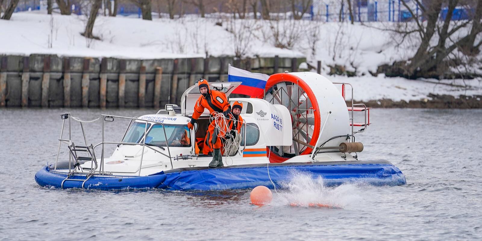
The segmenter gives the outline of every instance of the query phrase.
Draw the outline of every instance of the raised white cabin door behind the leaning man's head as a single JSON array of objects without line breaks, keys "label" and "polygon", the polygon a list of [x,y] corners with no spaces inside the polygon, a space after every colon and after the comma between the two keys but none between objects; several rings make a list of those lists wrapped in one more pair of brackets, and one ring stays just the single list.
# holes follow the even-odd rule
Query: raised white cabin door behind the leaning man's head
[{"label": "raised white cabin door behind the leaning man's head", "polygon": [[[234,89],[241,85],[241,82],[210,82],[209,88],[211,90],[216,90],[223,92],[226,94],[226,97],[229,97]],[[194,113],[194,104],[196,100],[198,100],[201,92],[199,91],[198,84],[194,84],[193,86],[187,88],[187,90],[182,94],[181,97],[181,114],[184,116],[192,116]],[[204,113],[209,114],[209,111],[206,109]],[[204,114],[203,113],[203,114]]]}]

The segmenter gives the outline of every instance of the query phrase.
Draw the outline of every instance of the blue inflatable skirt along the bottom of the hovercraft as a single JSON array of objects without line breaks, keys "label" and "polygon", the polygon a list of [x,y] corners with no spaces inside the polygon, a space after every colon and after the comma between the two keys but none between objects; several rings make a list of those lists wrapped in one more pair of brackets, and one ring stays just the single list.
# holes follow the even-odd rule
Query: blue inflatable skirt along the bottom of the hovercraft
[{"label": "blue inflatable skirt along the bottom of the hovercraft", "polygon": [[[349,163],[349,164],[348,164]],[[269,175],[268,175],[269,172]],[[375,186],[397,186],[406,183],[402,172],[388,161],[335,161],[308,163],[269,163],[223,168],[180,168],[148,176],[93,175],[84,184],[88,189],[224,190],[256,186],[286,187],[297,175],[321,178],[323,185],[365,183]],[[40,186],[61,187],[66,174],[44,167],[35,174]],[[85,180],[85,175],[70,178]],[[81,188],[82,181],[67,180],[64,188]]]}]

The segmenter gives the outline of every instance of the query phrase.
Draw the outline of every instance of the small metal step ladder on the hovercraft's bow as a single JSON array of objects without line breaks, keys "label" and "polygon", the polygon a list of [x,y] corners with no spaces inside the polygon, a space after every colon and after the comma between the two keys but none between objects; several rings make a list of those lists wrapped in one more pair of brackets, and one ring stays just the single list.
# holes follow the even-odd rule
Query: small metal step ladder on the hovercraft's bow
[{"label": "small metal step ladder on the hovercraft's bow", "polygon": [[[94,175],[94,171],[95,169],[97,169],[97,160],[95,159],[94,146],[92,144],[90,146],[76,146],[74,143],[72,143],[72,145],[68,146],[68,149],[70,150],[70,154],[74,158],[74,169],[67,174],[67,177],[60,184],[60,187],[64,188],[64,183],[66,181],[77,181],[82,182],[81,188],[84,188],[85,182],[87,182],[92,177],[92,175]],[[87,154],[87,156],[79,156],[77,152],[85,153]],[[90,169],[89,173],[85,175],[85,179],[71,178],[74,176],[74,174],[76,174],[77,170],[83,172],[83,169],[80,165],[86,161],[92,161],[93,164],[95,164],[95,167]],[[84,175],[76,176],[83,177]]]}]

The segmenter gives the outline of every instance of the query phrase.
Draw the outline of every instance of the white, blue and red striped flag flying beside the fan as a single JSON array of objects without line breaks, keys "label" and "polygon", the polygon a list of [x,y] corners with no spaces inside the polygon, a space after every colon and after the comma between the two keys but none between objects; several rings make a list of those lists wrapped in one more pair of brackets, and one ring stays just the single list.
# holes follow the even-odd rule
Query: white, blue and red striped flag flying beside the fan
[{"label": "white, blue and red striped flag flying beside the fan", "polygon": [[251,73],[247,70],[232,67],[228,68],[228,82],[242,82],[232,93],[246,94],[250,96],[263,96],[266,81],[269,75],[261,73]]}]

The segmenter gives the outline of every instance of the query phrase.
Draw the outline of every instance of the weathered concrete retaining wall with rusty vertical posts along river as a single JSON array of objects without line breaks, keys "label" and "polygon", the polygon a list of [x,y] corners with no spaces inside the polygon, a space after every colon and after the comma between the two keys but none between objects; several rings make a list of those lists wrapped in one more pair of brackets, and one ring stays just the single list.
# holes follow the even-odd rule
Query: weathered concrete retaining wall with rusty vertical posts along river
[{"label": "weathered concrete retaining wall with rusty vertical posts along river", "polygon": [[[304,58],[116,59],[0,56],[0,107],[155,107],[179,103],[199,78],[227,81],[228,64],[253,72],[297,71]],[[170,92],[170,93],[169,93]]]}]

